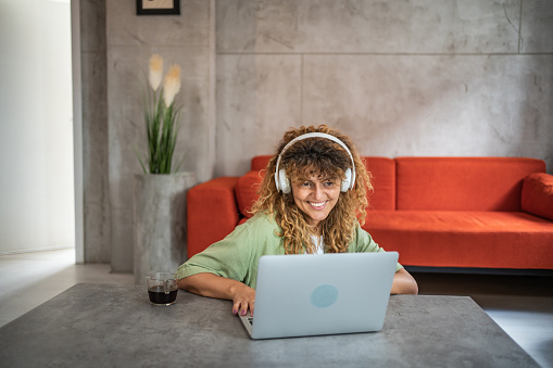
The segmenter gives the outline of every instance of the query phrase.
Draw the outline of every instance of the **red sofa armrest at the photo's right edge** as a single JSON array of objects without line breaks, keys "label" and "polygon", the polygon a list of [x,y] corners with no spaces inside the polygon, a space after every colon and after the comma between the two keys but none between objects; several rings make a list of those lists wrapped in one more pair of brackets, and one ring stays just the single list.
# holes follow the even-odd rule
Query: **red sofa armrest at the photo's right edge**
[{"label": "red sofa armrest at the photo's right edge", "polygon": [[521,207],[530,214],[553,220],[553,175],[536,173],[524,179]]}]

